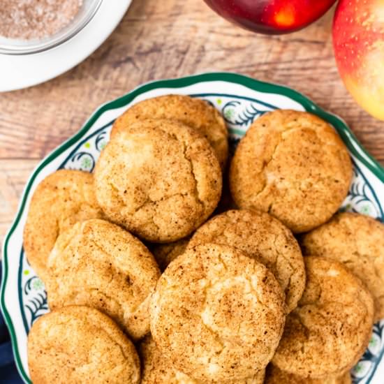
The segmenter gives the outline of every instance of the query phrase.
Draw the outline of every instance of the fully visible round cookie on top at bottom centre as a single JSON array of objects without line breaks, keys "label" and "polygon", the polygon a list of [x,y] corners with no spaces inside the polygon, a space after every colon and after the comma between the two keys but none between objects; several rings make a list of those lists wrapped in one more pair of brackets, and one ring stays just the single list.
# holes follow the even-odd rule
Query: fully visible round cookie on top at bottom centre
[{"label": "fully visible round cookie on top at bottom centre", "polygon": [[152,337],[175,369],[219,383],[265,369],[286,311],[265,265],[218,244],[196,246],[173,260],[150,308]]}]

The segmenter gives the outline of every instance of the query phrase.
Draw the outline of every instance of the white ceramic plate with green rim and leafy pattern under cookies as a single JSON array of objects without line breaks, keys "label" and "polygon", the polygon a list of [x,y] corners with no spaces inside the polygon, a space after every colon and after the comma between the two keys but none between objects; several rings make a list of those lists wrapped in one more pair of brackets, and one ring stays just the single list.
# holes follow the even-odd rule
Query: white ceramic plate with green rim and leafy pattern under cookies
[{"label": "white ceramic plate with green rim and leafy pattern under cookies", "polygon": [[[253,120],[276,108],[307,110],[329,121],[346,143],[354,165],[353,182],[340,209],[384,221],[384,169],[365,152],[344,121],[318,108],[302,94],[232,73],[207,73],[138,87],[126,96],[102,105],[78,133],[38,165],[29,179],[16,219],[4,241],[1,310],[12,337],[17,368],[26,383],[30,383],[27,334],[34,321],[48,311],[43,282],[31,269],[22,248],[22,231],[31,195],[45,176],[59,168],[92,172],[109,140],[110,128],[116,117],[138,101],[163,94],[188,94],[212,103],[226,119],[232,150]],[[383,353],[384,320],[374,325],[369,347],[352,371],[355,384],[383,383]]]}]

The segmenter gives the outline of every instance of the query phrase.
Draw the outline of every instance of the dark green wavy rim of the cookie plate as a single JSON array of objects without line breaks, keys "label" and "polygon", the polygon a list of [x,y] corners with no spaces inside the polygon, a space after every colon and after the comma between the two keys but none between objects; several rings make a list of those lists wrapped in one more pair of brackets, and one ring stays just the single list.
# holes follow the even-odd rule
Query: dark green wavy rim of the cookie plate
[{"label": "dark green wavy rim of the cookie plate", "polygon": [[[15,329],[13,327],[12,320],[10,318],[10,315],[8,313],[8,310],[6,308],[5,303],[5,285],[8,278],[8,242],[10,239],[10,236],[15,231],[15,228],[17,227],[20,217],[22,216],[22,212],[24,211],[25,203],[27,201],[27,196],[29,195],[29,191],[31,190],[31,186],[34,183],[34,180],[36,179],[36,176],[42,170],[45,165],[50,163],[54,160],[57,156],[59,156],[62,152],[64,152],[68,147],[71,147],[77,140],[80,140],[82,135],[86,133],[91,126],[97,121],[97,119],[103,115],[105,111],[108,110],[114,110],[117,108],[124,107],[128,103],[131,103],[134,98],[139,96],[140,94],[144,94],[147,91],[152,91],[153,89],[158,88],[182,88],[182,87],[188,87],[189,85],[193,85],[199,82],[214,82],[214,81],[223,81],[223,82],[232,82],[235,84],[243,85],[244,87],[247,87],[249,89],[252,89],[253,91],[262,92],[265,94],[280,94],[282,96],[287,96],[288,98],[293,99],[297,103],[300,103],[305,110],[308,112],[314,113],[315,115],[318,115],[322,119],[325,119],[326,121],[330,122],[334,128],[337,129],[337,132],[343,139],[344,143],[348,147],[349,151],[353,156],[355,156],[359,161],[361,161],[371,172],[378,177],[378,179],[381,180],[381,182],[384,182],[384,168],[376,161],[375,158],[373,158],[365,149],[362,147],[360,142],[355,137],[354,133],[350,131],[350,128],[346,125],[346,123],[336,115],[332,115],[329,112],[325,112],[322,108],[318,107],[313,101],[311,101],[309,98],[304,96],[303,94],[300,94],[300,92],[294,91],[293,89],[290,89],[288,87],[284,87],[282,85],[278,84],[272,84],[267,82],[261,82],[259,80],[255,80],[251,77],[245,76],[245,75],[239,75],[237,73],[228,73],[228,72],[214,72],[214,73],[202,73],[200,75],[192,75],[187,77],[181,77],[177,79],[170,79],[170,80],[158,80],[154,82],[148,82],[147,84],[143,84],[142,86],[133,89],[133,91],[129,92],[128,94],[121,96],[120,98],[117,98],[114,101],[110,101],[109,103],[105,103],[104,105],[101,105],[96,112],[90,117],[90,119],[84,124],[84,126],[75,133],[71,138],[66,140],[63,144],[61,144],[57,149],[54,149],[43,161],[37,166],[37,168],[32,173],[31,177],[29,178],[29,181],[27,182],[27,186],[24,189],[22,200],[20,203],[20,206],[17,210],[17,215],[15,218],[15,221],[13,221],[12,226],[10,227],[10,230],[8,231],[4,243],[3,243],[3,274],[1,279],[1,301],[0,301],[0,308],[3,313],[4,320],[6,321],[6,325],[8,326],[8,330],[10,332],[10,338],[12,341],[13,346],[13,355],[15,356],[15,362],[16,367],[20,373],[20,376],[26,381],[27,383],[31,383],[30,379],[28,378],[26,372],[24,371],[22,367],[22,362],[20,360],[19,350],[17,347],[17,340],[16,340],[16,334]],[[351,143],[355,142],[357,147],[360,148],[360,151],[364,154],[362,154],[357,151],[354,145]]]}]

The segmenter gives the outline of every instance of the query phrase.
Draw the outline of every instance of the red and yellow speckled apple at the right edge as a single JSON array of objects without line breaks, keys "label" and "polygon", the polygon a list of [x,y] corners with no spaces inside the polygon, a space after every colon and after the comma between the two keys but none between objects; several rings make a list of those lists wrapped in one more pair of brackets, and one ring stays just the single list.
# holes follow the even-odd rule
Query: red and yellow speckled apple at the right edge
[{"label": "red and yellow speckled apple at the right edge", "polygon": [[364,110],[384,120],[384,1],[340,0],[332,34],[346,89]]}]

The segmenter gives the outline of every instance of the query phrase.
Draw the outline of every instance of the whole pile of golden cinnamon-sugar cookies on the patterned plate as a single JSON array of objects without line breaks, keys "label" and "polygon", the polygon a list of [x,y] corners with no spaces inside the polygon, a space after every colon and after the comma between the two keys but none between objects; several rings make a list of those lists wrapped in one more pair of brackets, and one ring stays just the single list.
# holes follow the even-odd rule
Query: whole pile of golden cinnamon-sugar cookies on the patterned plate
[{"label": "whole pile of golden cinnamon-sugar cookies on the patterned plate", "polygon": [[24,249],[51,309],[31,380],[350,383],[384,317],[384,226],[336,213],[351,177],[307,112],[254,121],[228,165],[205,101],[133,105],[93,175],[54,172],[31,200]]}]

